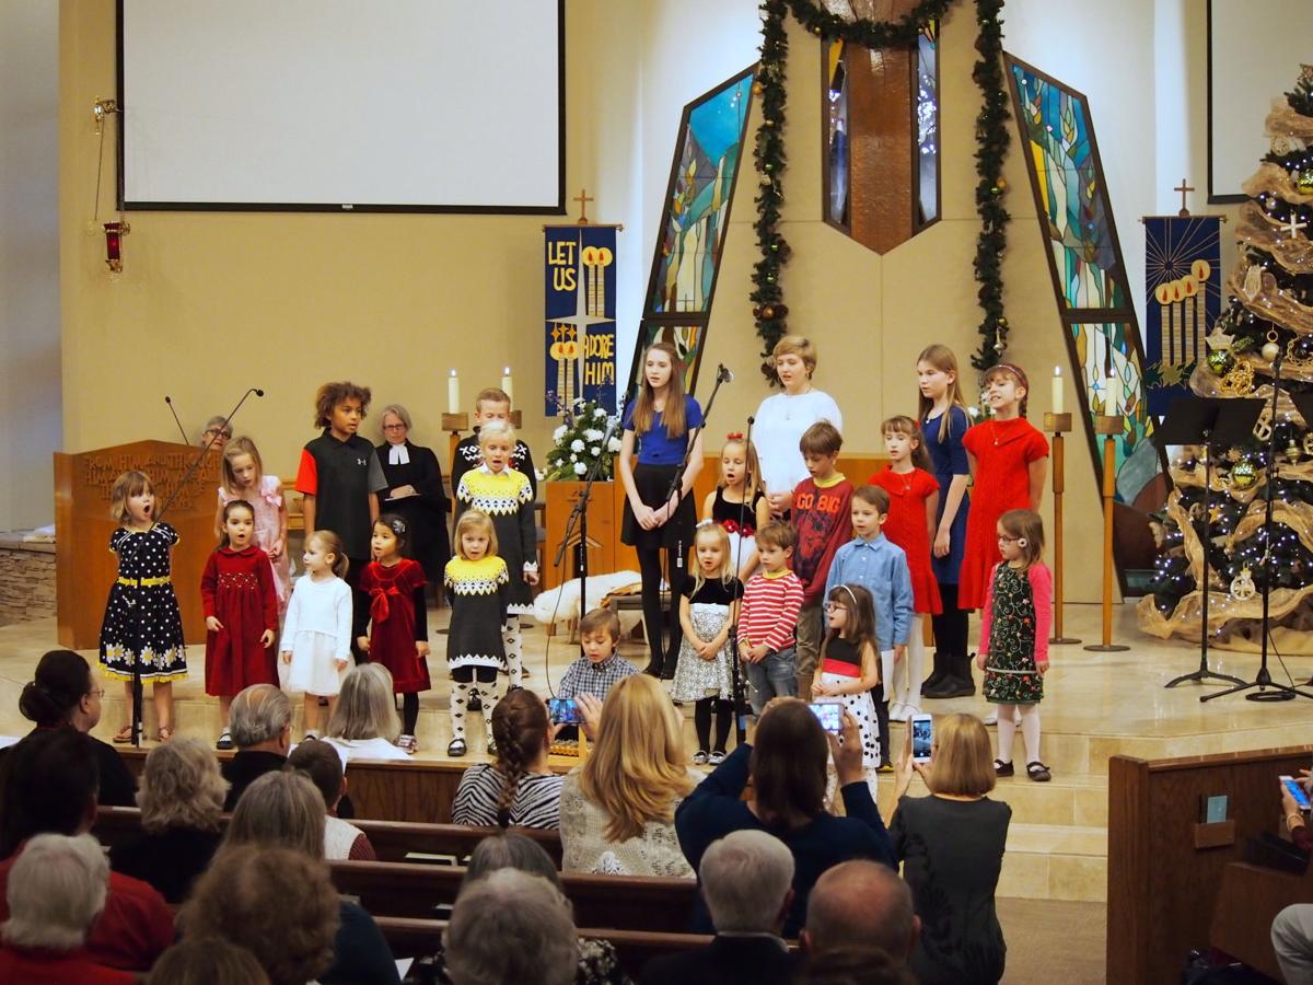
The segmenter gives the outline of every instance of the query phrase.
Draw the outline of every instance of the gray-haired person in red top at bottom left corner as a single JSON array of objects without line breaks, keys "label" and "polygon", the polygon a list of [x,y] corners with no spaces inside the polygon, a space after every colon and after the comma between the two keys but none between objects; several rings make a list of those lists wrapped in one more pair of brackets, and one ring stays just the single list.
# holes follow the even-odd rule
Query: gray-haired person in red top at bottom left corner
[{"label": "gray-haired person in red top at bottom left corner", "polygon": [[38,834],[13,864],[0,925],[0,981],[24,985],[131,985],[129,972],[97,964],[87,932],[109,888],[109,863],[89,834]]}]

